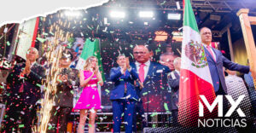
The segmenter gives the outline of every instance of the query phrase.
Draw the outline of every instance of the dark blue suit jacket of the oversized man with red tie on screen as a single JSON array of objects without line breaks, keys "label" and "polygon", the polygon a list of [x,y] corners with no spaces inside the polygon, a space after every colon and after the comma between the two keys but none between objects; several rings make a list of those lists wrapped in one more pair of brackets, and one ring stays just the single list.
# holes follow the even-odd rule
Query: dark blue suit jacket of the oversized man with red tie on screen
[{"label": "dark blue suit jacket of the oversized man with red tie on screen", "polygon": [[[131,63],[131,67],[137,71],[135,62]],[[142,98],[144,110],[148,112],[165,111],[163,106],[164,102],[167,104],[170,102],[167,101],[170,96],[167,93],[168,72],[171,72],[168,67],[163,66],[160,63],[150,61],[148,73],[143,82],[144,88],[141,90],[137,85],[137,95]],[[147,104],[148,102],[150,102],[150,104]]]}]

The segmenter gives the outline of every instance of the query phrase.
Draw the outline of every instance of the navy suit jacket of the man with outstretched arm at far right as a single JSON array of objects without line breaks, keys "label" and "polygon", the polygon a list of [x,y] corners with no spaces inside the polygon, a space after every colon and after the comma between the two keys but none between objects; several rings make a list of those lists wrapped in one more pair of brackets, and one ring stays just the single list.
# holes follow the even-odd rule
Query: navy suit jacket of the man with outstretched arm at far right
[{"label": "navy suit jacket of the man with outstretched arm at far right", "polygon": [[247,73],[250,72],[250,67],[242,66],[236,64],[222,55],[222,53],[218,49],[213,49],[213,52],[216,55],[216,61],[212,58],[210,52],[205,48],[206,55],[207,55],[207,62],[210,68],[211,77],[212,77],[212,84],[214,87],[215,92],[218,91],[219,86],[223,88],[224,92],[227,94],[227,87],[225,84],[224,72],[223,67],[228,68],[232,71],[238,71]]}]

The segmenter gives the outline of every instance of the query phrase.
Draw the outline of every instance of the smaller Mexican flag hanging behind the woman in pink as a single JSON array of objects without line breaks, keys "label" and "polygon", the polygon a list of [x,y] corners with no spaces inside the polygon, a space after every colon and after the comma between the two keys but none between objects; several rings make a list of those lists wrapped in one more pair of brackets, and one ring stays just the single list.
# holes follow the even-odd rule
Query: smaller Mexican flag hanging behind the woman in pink
[{"label": "smaller Mexican flag hanging behind the woman in pink", "polygon": [[85,61],[90,56],[96,56],[96,58],[98,59],[99,70],[102,72],[102,80],[105,81],[105,76],[102,67],[100,40],[97,38],[93,42],[91,42],[89,38],[86,39],[76,69],[84,69]]}]

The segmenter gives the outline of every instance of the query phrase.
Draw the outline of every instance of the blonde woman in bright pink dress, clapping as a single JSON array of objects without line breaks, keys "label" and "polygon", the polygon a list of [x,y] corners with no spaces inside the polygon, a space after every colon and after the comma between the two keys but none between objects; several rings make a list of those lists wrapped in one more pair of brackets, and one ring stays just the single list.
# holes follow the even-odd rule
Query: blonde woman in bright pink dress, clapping
[{"label": "blonde woman in bright pink dress, clapping", "polygon": [[85,61],[84,70],[80,71],[80,85],[84,89],[74,107],[74,109],[80,110],[78,133],[84,133],[84,124],[89,111],[89,133],[93,133],[95,130],[96,112],[98,109],[102,109],[97,83],[102,86],[103,81],[97,64],[96,57],[90,56]]}]

